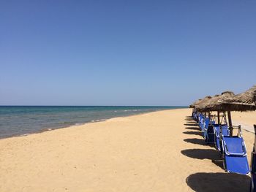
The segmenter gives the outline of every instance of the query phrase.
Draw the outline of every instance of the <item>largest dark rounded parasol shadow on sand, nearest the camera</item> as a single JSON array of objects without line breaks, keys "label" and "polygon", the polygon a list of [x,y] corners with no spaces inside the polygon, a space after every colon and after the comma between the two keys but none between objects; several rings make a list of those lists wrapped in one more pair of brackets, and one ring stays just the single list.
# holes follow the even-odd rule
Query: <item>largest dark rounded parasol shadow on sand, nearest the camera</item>
[{"label": "largest dark rounded parasol shadow on sand, nearest the camera", "polygon": [[250,177],[233,173],[199,172],[190,174],[186,182],[192,190],[198,192],[249,191]]}]

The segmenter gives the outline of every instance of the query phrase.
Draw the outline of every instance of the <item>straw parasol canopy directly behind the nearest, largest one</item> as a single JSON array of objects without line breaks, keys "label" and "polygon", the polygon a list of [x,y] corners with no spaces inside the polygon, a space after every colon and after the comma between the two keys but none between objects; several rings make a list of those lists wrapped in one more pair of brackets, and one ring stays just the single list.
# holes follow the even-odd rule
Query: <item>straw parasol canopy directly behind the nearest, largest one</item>
[{"label": "straw parasol canopy directly behind the nearest, largest one", "polygon": [[219,100],[230,98],[234,96],[235,94],[232,91],[225,91],[222,92],[220,95],[215,95],[208,101],[206,101],[204,104],[200,104],[198,106],[199,112],[210,112],[210,111],[219,111],[224,112],[225,109],[222,106],[222,103],[219,103]]}]

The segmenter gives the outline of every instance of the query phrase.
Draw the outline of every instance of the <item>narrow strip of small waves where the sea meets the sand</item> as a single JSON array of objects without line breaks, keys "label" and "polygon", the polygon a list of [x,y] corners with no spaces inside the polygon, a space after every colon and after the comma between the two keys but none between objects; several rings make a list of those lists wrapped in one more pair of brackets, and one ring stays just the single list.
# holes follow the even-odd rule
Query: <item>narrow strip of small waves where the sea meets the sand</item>
[{"label": "narrow strip of small waves where the sea meets the sand", "polygon": [[[159,112],[159,111],[165,111],[165,110],[177,110],[177,109],[188,109],[189,107],[180,107],[180,108],[173,108],[173,109],[164,109],[164,110],[156,110],[156,111],[152,111],[152,112]],[[130,114],[130,115],[121,115],[121,116],[116,116],[116,117],[113,117],[113,118],[125,118],[125,117],[131,117],[131,116],[136,116],[136,115],[143,115],[143,114],[146,114],[146,113],[151,113],[151,112],[140,112],[138,114]],[[44,133],[44,132],[48,132],[48,131],[54,131],[54,130],[57,130],[57,129],[62,129],[62,128],[70,128],[70,127],[75,127],[75,126],[84,126],[86,124],[89,124],[89,123],[99,123],[99,122],[104,122],[106,120],[110,120],[110,119],[113,119],[113,118],[107,118],[107,119],[99,119],[99,120],[91,120],[91,121],[88,121],[88,122],[84,122],[84,123],[75,123],[73,125],[69,125],[69,126],[63,126],[63,127],[56,127],[56,128],[53,128],[53,127],[49,127],[49,128],[43,128],[42,130],[39,130],[39,131],[33,131],[31,133],[27,133],[27,134],[14,134],[10,137],[0,137],[0,140],[1,139],[8,139],[8,138],[13,138],[13,137],[27,137],[29,135],[32,135],[32,134],[41,134],[41,133]]]}]

